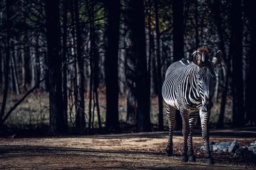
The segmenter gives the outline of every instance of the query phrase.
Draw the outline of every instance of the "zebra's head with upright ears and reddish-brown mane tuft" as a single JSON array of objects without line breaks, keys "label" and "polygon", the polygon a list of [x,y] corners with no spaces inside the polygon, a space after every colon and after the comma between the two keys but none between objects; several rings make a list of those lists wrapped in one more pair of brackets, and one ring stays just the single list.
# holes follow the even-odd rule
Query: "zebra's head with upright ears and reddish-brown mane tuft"
[{"label": "zebra's head with upright ears and reddish-brown mane tuft", "polygon": [[214,66],[220,64],[222,53],[220,50],[214,57],[209,56],[206,48],[198,48],[192,54],[193,62],[198,66],[196,79],[198,82],[198,93],[202,99],[202,109],[209,111],[212,108],[212,97],[216,86]]}]

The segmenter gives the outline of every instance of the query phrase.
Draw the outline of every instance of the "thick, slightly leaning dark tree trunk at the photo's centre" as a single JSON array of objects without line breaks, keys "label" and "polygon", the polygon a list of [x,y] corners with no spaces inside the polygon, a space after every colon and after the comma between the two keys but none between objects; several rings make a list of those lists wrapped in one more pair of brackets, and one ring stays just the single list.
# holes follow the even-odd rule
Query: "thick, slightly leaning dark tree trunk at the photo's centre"
[{"label": "thick, slightly leaning dark tree trunk at the photo's centre", "polygon": [[145,16],[143,1],[127,1],[130,8],[129,27],[131,28],[131,52],[136,66],[136,123],[137,131],[151,131],[150,125],[150,87],[147,71],[145,42]]}]

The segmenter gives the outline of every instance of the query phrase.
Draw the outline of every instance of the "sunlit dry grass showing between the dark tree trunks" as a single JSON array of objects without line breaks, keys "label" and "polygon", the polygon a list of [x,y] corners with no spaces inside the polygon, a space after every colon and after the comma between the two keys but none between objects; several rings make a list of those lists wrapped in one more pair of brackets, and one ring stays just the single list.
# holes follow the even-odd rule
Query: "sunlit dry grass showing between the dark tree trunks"
[{"label": "sunlit dry grass showing between the dark tree trunks", "polygon": [[[6,110],[8,110],[10,107],[13,106],[14,103],[18,101],[18,99],[21,97],[17,96],[15,94],[8,94],[8,100],[6,104]],[[49,124],[49,96],[46,92],[35,92],[31,95],[29,95],[23,103],[21,103],[10,115],[8,120],[6,120],[6,125],[8,127],[18,127],[18,128],[37,128],[42,127],[42,125]],[[0,97],[1,100],[1,97]],[[85,111],[86,111],[86,118],[88,118],[88,96],[85,97]],[[106,98],[104,95],[104,92],[100,92],[99,94],[99,105],[100,105],[100,115],[101,115],[101,121],[104,125],[105,122],[105,115],[106,115]],[[158,102],[157,102],[157,96],[152,96],[150,99],[151,102],[151,122],[153,125],[158,124]],[[225,124],[229,124],[232,122],[232,107],[231,107],[232,101],[230,99],[227,99],[227,106],[225,110]],[[164,106],[164,125],[168,125],[167,117],[165,116],[165,104],[163,102]],[[218,113],[220,111],[220,103],[214,103],[214,107],[212,108],[211,113],[211,123],[216,124],[218,121]],[[70,108],[68,108],[68,122],[69,125],[74,125],[74,107],[70,111]],[[119,117],[121,122],[125,122],[126,120],[126,99],[124,95],[121,95],[119,97]],[[87,120],[88,122],[88,120]],[[94,117],[94,127],[98,127],[98,121],[97,121],[97,113],[95,109],[95,117]]]}]

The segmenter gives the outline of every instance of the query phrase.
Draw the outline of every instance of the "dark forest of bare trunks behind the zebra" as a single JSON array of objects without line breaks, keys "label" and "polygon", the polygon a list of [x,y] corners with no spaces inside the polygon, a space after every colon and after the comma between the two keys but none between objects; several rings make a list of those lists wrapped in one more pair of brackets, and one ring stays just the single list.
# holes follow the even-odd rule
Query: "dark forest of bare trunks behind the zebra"
[{"label": "dark forest of bare trunks behind the zebra", "polygon": [[211,126],[255,125],[253,10],[250,0],[1,0],[0,131],[163,130],[164,73],[199,46],[223,52]]}]

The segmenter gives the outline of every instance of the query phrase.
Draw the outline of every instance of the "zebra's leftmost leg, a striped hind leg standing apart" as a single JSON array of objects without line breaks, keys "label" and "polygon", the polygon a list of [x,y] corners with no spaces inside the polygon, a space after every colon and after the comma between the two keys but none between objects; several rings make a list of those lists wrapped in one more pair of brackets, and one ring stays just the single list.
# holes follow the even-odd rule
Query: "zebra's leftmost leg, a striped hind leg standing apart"
[{"label": "zebra's leftmost leg, a striped hind leg standing apart", "polygon": [[175,111],[176,111],[175,108],[166,104],[166,115],[168,117],[168,127],[169,127],[169,139],[168,139],[168,143],[166,146],[166,153],[167,153],[168,157],[170,157],[173,154],[172,138],[173,138],[173,131],[174,131],[175,125],[176,125]]}]

